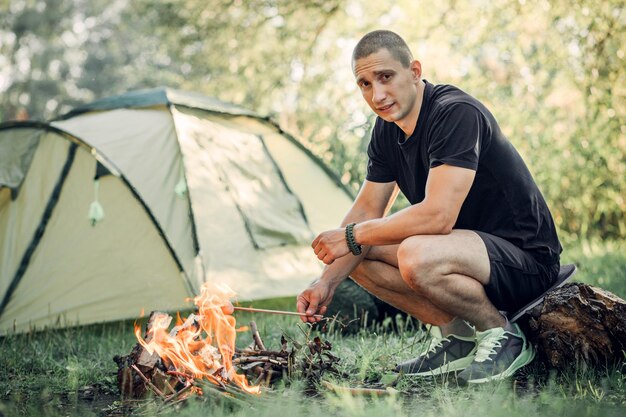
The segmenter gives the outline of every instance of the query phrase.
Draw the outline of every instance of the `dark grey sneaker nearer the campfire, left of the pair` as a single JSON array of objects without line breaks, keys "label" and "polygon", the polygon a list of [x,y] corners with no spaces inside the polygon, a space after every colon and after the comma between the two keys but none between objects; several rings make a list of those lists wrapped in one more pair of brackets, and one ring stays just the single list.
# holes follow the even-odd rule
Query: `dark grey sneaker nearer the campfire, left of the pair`
[{"label": "dark grey sneaker nearer the campfire, left of the pair", "polygon": [[435,376],[464,369],[474,359],[476,338],[449,335],[431,341],[429,349],[415,359],[396,366],[405,375]]}]

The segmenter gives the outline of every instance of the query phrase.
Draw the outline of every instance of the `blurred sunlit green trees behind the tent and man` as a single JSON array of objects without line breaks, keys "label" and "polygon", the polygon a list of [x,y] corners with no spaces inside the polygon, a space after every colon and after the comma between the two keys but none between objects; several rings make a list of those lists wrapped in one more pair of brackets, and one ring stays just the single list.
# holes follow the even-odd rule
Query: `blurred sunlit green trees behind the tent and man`
[{"label": "blurred sunlit green trees behind the tent and man", "polygon": [[620,0],[0,0],[0,120],[129,90],[198,91],[271,115],[358,189],[374,121],[350,68],[373,29],[433,83],[482,100],[566,240],[626,238]]}]

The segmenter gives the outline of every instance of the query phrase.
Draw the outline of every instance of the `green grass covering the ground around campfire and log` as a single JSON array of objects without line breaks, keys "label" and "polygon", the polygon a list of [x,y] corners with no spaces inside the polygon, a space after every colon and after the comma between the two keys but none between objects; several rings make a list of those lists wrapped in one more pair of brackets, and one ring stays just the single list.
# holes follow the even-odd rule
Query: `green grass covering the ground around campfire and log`
[{"label": "green grass covering the ground around campfire and log", "polygon": [[[626,297],[626,245],[585,243],[564,253],[579,266],[576,280]],[[293,299],[255,303],[293,309]],[[254,319],[270,348],[280,335],[303,340],[310,329],[297,319],[237,313],[239,324]],[[195,398],[164,407],[146,400],[125,407],[117,392],[114,355],[135,344],[132,321],[107,323],[0,339],[0,416],[621,416],[626,410],[626,367],[548,372],[532,364],[514,380],[461,388],[452,379],[401,377],[389,397],[351,397],[311,386],[295,377],[243,402],[222,395]],[[414,357],[427,336],[414,321],[388,319],[344,335],[330,326],[322,337],[333,344],[347,377],[326,376],[344,386],[383,386],[395,379],[398,360]],[[242,333],[238,344],[250,342]]]}]

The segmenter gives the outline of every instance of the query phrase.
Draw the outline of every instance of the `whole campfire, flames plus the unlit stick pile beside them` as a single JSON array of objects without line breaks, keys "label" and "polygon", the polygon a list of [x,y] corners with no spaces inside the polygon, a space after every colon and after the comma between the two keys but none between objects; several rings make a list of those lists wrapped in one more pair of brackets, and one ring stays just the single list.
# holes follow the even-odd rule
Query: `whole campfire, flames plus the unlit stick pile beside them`
[{"label": "whole campfire, flames plus the unlit stick pile beside them", "polygon": [[[186,319],[152,312],[145,333],[135,324],[137,344],[127,356],[114,358],[118,365],[118,385],[126,398],[142,398],[152,392],[166,402],[202,395],[206,390],[222,393],[260,393],[295,370],[306,378],[319,378],[327,370],[336,372],[338,358],[330,353],[330,344],[319,337],[306,343],[308,349],[296,362],[303,347],[281,337],[280,350],[268,350],[255,322],[249,328],[236,328],[235,318],[227,307],[235,293],[227,286],[205,284],[194,298],[197,311]],[[252,343],[244,349],[235,347],[237,332],[250,330]],[[306,352],[308,350],[308,352]],[[238,373],[240,371],[242,373]],[[252,383],[249,382],[250,378]]]}]

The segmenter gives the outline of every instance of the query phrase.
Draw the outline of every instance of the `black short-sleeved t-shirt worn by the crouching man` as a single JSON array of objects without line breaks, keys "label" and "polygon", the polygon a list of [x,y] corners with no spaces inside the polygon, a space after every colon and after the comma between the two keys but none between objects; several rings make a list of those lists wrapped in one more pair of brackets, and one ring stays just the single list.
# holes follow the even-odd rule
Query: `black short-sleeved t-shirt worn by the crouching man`
[{"label": "black short-sleeved t-shirt worn by the crouching man", "polygon": [[424,199],[430,168],[447,164],[475,170],[454,228],[499,236],[546,265],[558,262],[562,249],[548,206],[496,119],[456,87],[425,84],[409,138],[395,123],[377,118],[367,151],[367,180],[396,181],[416,204]]}]

